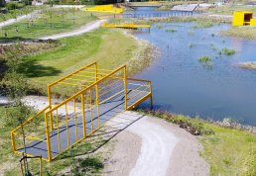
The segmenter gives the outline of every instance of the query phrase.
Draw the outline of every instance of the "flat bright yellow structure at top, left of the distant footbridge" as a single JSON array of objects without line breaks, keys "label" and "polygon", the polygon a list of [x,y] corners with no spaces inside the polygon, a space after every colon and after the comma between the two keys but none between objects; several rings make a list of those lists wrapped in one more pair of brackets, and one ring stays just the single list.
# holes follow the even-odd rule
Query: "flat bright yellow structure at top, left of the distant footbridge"
[{"label": "flat bright yellow structure at top, left of the distant footbridge", "polygon": [[89,12],[104,12],[111,14],[120,14],[124,12],[124,9],[121,7],[115,7],[114,5],[98,5],[95,7],[85,8],[85,11]]}]

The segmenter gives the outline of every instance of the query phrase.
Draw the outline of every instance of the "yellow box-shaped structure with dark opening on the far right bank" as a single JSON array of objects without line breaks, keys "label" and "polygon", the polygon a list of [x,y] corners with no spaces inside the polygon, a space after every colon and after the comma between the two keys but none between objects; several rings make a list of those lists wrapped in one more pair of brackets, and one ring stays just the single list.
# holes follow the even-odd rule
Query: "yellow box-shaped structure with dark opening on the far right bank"
[{"label": "yellow box-shaped structure with dark opening on the far right bank", "polygon": [[253,19],[253,12],[236,11],[233,13],[233,26],[256,26],[256,19]]}]

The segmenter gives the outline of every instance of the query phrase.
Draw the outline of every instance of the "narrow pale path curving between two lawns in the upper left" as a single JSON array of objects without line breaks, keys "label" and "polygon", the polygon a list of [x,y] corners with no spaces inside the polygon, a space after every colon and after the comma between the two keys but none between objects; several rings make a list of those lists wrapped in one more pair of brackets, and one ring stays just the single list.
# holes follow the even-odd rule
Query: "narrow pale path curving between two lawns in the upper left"
[{"label": "narrow pale path curving between two lawns in the upper left", "polygon": [[100,24],[103,23],[105,20],[97,20],[91,23],[86,24],[85,26],[82,26],[81,28],[77,30],[73,30],[71,32],[66,32],[66,33],[61,33],[61,34],[56,34],[53,36],[47,36],[40,38],[41,40],[58,40],[61,38],[66,38],[66,37],[71,37],[71,36],[78,36],[83,33],[90,32],[92,30],[95,30],[100,27]]}]

